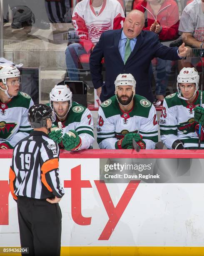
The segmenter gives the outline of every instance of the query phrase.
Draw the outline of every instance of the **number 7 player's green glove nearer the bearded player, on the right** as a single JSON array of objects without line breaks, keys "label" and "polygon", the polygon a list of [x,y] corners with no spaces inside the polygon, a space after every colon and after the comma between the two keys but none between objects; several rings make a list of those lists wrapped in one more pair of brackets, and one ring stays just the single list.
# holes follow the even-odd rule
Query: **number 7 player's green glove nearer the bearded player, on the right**
[{"label": "number 7 player's green glove nearer the bearded player, on the right", "polygon": [[62,143],[66,150],[76,151],[82,145],[82,140],[76,131],[70,130],[63,136]]}]

